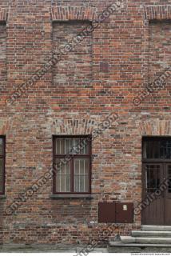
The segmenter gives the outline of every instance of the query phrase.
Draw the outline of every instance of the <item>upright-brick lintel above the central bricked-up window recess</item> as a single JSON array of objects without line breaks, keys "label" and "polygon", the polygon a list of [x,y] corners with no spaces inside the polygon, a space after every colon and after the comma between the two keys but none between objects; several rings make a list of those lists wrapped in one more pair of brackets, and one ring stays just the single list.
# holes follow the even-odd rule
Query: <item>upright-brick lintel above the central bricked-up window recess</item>
[{"label": "upright-brick lintel above the central bricked-up window recess", "polygon": [[89,20],[96,16],[96,8],[54,6],[51,12],[52,21]]}]

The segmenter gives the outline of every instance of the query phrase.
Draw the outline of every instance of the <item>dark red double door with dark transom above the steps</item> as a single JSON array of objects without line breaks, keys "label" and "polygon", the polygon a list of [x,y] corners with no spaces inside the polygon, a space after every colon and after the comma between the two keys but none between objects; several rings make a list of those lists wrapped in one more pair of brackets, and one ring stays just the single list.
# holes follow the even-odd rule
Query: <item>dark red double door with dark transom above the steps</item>
[{"label": "dark red double door with dark transom above the steps", "polygon": [[143,143],[142,224],[171,225],[171,139]]}]

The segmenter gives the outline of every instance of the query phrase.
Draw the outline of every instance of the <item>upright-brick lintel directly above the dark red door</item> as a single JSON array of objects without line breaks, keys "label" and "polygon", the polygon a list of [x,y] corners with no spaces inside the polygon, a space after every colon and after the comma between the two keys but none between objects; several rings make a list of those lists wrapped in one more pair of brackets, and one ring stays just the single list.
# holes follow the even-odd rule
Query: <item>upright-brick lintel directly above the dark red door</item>
[{"label": "upright-brick lintel directly above the dark red door", "polygon": [[152,119],[138,124],[139,132],[143,136],[170,136],[171,121]]}]

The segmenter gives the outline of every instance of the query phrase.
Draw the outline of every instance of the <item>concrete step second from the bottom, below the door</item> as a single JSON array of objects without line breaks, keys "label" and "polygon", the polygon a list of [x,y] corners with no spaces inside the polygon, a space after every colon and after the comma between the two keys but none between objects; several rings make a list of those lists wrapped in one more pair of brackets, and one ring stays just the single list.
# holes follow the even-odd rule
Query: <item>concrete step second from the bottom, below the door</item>
[{"label": "concrete step second from the bottom, below the door", "polygon": [[123,243],[143,243],[143,244],[171,244],[171,238],[143,238],[143,237],[131,237],[121,236],[121,242]]}]

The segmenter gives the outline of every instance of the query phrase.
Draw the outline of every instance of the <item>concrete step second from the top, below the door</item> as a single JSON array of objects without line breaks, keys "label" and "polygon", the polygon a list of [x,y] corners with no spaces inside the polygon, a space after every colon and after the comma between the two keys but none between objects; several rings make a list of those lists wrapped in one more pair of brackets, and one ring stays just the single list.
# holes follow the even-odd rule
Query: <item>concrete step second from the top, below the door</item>
[{"label": "concrete step second from the top, below the door", "polygon": [[171,238],[171,231],[151,231],[151,230],[133,230],[133,237],[160,237],[160,238]]}]

